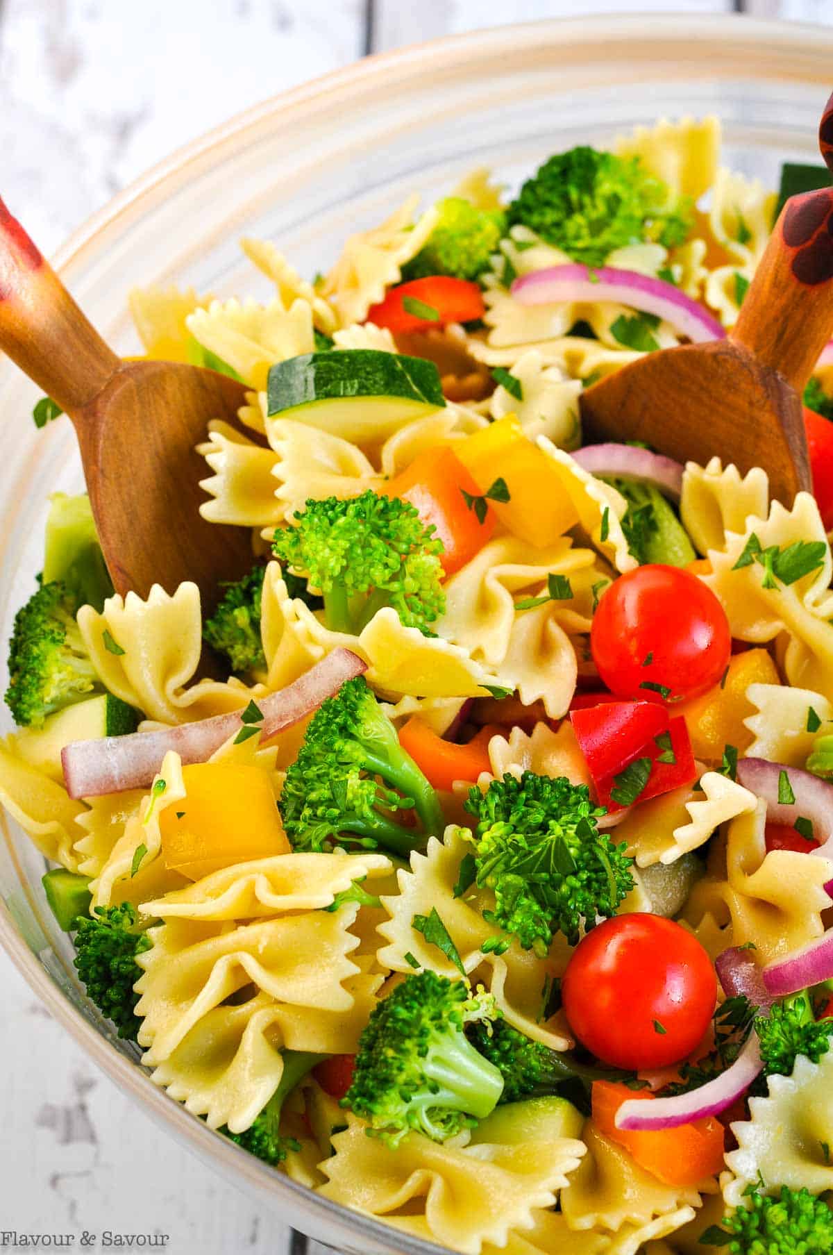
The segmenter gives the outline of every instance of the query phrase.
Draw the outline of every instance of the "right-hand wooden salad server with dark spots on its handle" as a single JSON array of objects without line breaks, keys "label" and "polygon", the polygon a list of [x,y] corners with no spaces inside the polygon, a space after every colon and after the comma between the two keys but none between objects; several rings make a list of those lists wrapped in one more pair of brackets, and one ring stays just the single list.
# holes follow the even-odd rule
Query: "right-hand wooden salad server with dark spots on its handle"
[{"label": "right-hand wooden salad server with dark spots on its handle", "polygon": [[[833,95],[819,127],[833,169]],[[586,435],[645,441],[679,462],[715,454],[769,473],[792,506],[812,489],[802,394],[833,335],[833,187],[784,206],[725,340],[650,353],[581,397]]]}]

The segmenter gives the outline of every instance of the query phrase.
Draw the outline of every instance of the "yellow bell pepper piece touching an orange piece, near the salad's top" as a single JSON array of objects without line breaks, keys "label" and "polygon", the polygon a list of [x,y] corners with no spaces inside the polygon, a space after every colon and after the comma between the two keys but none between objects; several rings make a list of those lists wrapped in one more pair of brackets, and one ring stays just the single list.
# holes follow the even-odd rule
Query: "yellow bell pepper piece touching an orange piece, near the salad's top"
[{"label": "yellow bell pepper piece touching an orange piece, near the salad's top", "polygon": [[523,434],[514,414],[482,432],[454,442],[454,453],[472,472],[480,491],[496,479],[509,489],[506,503],[489,506],[507,531],[543,548],[578,522],[576,507],[553,462]]}]

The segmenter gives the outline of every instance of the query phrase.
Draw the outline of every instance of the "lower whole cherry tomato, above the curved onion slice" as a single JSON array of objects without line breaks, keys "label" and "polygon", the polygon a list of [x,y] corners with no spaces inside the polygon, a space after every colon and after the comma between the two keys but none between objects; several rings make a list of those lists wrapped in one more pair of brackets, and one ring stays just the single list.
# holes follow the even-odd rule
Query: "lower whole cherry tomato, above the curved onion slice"
[{"label": "lower whole cherry tomato, above the curved onion slice", "polygon": [[570,1027],[617,1068],[665,1068],[703,1040],[718,978],[700,943],[660,915],[618,915],[572,953],[561,985]]}]

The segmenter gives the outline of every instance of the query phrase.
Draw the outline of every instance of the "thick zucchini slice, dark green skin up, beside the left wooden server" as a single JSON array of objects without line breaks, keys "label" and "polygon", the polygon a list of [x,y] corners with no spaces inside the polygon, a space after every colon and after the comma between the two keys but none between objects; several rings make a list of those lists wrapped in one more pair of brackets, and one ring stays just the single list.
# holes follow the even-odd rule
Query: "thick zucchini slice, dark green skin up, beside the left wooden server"
[{"label": "thick zucchini slice, dark green skin up, beside the left wooden server", "polygon": [[379,349],[305,353],[279,361],[268,371],[267,399],[270,418],[291,418],[374,444],[445,407],[433,361]]}]

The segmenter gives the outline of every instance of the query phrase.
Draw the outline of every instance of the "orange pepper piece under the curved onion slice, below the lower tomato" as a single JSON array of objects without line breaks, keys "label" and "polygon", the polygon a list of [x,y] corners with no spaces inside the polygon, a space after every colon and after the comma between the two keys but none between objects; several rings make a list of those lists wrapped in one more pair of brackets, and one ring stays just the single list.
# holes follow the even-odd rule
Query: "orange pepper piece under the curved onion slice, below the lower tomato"
[{"label": "orange pepper piece under the curved onion slice, below the lower tomato", "polygon": [[616,1112],[626,1099],[650,1102],[654,1097],[644,1089],[629,1089],[612,1081],[593,1081],[593,1124],[611,1142],[623,1146],[640,1167],[666,1185],[691,1186],[716,1176],[724,1167],[724,1130],[713,1116],[656,1131],[616,1127]]}]

